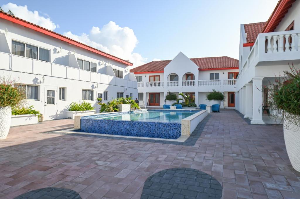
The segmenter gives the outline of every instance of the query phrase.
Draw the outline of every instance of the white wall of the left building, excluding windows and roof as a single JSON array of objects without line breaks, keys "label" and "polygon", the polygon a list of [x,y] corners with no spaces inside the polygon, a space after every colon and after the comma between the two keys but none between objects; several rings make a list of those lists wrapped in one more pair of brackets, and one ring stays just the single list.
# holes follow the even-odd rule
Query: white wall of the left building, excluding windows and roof
[{"label": "white wall of the left building, excluding windows and roof", "polygon": [[[4,30],[7,28],[8,33]],[[11,41],[16,40],[29,45],[50,50],[50,62],[11,54]],[[82,102],[82,89],[93,90],[93,100],[86,100],[99,111],[98,93],[108,91],[107,100],[123,96],[137,98],[137,80],[134,74],[125,72],[128,65],[109,59],[91,51],[69,45],[61,40],[46,36],[21,25],[0,19],[0,72],[16,78],[17,83],[38,86],[38,100],[27,100],[45,120],[66,118],[71,102]],[[56,48],[60,53],[54,53]],[[75,52],[74,52],[75,51]],[[71,53],[70,53],[71,52]],[[77,58],[96,63],[96,72],[79,69]],[[116,78],[112,69],[123,71],[123,78]],[[45,81],[43,82],[43,78]],[[65,88],[65,100],[59,100],[59,88]],[[46,104],[46,90],[55,90],[55,104]]]}]

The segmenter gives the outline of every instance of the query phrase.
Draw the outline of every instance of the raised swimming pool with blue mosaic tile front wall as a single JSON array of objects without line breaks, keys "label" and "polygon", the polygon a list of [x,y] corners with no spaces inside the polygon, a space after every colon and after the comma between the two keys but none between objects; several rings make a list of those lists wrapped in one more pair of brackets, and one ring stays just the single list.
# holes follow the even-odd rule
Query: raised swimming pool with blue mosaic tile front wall
[{"label": "raised swimming pool with blue mosaic tile front wall", "polygon": [[182,135],[190,135],[195,125],[206,116],[202,113],[207,115],[206,110],[164,109],[100,113],[75,116],[75,128],[79,126],[80,129],[76,131],[85,133],[177,139]]}]

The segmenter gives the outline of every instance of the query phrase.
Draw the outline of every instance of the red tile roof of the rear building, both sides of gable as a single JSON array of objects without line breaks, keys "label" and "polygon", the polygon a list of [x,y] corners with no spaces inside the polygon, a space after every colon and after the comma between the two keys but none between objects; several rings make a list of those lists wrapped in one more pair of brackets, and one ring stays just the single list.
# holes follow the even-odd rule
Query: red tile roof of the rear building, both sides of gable
[{"label": "red tile roof of the rear building, both sides of gable", "polygon": [[[199,70],[238,69],[238,60],[231,57],[202,57],[191,58]],[[131,69],[130,72],[163,72],[171,60],[152,61]]]}]

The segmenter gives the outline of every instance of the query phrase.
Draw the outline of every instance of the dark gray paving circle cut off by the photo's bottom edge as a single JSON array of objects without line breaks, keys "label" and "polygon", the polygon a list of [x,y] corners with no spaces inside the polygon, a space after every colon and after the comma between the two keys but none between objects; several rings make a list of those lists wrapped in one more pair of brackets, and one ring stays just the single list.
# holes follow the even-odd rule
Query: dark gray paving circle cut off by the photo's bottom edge
[{"label": "dark gray paving circle cut off by the photo's bottom edge", "polygon": [[81,199],[81,197],[71,189],[47,187],[27,192],[14,199]]}]

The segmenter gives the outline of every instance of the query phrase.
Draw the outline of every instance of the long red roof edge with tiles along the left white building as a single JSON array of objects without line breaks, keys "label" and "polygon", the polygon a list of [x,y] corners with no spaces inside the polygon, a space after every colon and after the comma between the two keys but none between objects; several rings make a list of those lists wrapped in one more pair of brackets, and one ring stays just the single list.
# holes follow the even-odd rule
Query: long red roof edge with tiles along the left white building
[{"label": "long red roof edge with tiles along the left white building", "polygon": [[97,48],[93,48],[93,47],[88,46],[88,45],[86,45],[86,44],[84,44],[84,43],[81,43],[81,42],[78,42],[78,41],[76,41],[76,40],[73,40],[73,39],[71,39],[71,38],[69,38],[69,37],[65,37],[65,36],[63,36],[63,35],[61,35],[61,34],[58,34],[58,33],[54,32],[54,31],[50,31],[50,30],[48,30],[48,29],[46,29],[46,28],[43,28],[43,27],[41,27],[41,26],[39,26],[39,25],[33,24],[33,23],[31,23],[31,22],[28,22],[28,21],[25,21],[25,20],[20,19],[20,18],[18,18],[18,17],[16,17],[16,16],[12,16],[12,15],[10,15],[10,14],[8,14],[8,13],[5,13],[5,12],[0,11],[0,18],[1,18],[1,19],[6,19],[6,20],[8,20],[8,21],[10,21],[10,22],[17,23],[17,24],[22,25],[22,26],[24,26],[24,27],[26,27],[26,28],[31,28],[31,29],[33,29],[33,30],[35,30],[35,31],[38,31],[38,32],[41,32],[41,33],[43,33],[43,34],[49,35],[49,36],[51,36],[51,37],[54,37],[54,38],[56,38],[56,39],[59,39],[59,40],[68,42],[68,43],[73,44],[73,45],[76,45],[76,46],[78,46],[78,47],[84,48],[84,49],[86,49],[86,50],[88,50],[88,51],[92,51],[92,52],[94,52],[94,53],[100,54],[100,55],[102,55],[102,56],[104,56],[104,57],[108,57],[108,58],[110,58],[110,59],[119,61],[119,62],[121,62],[121,63],[130,65],[130,66],[133,65],[133,63],[130,63],[128,60],[123,60],[123,59],[121,59],[121,58],[119,58],[119,57],[116,57],[116,56],[113,56],[113,55],[108,54],[108,53],[106,53],[106,52],[103,52],[103,51],[101,51],[101,50],[98,50]]}]

